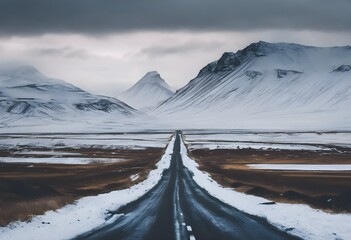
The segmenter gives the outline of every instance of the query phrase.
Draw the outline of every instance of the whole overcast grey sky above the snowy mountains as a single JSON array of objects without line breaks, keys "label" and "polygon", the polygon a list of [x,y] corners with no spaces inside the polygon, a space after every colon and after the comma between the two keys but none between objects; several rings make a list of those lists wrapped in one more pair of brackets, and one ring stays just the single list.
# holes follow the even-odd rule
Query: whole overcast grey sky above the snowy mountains
[{"label": "whole overcast grey sky above the snowy mountains", "polygon": [[351,44],[350,0],[0,0],[0,64],[117,96],[147,71],[174,88],[251,42]]}]

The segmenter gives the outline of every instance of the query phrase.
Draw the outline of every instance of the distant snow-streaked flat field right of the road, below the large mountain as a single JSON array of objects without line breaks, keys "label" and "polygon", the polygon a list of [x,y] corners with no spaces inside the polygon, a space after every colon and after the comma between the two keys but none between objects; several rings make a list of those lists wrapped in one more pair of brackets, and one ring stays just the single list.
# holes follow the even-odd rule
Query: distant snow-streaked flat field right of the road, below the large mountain
[{"label": "distant snow-streaked flat field right of the road, below the large mountain", "polygon": [[185,131],[190,149],[330,150],[351,148],[351,132]]}]

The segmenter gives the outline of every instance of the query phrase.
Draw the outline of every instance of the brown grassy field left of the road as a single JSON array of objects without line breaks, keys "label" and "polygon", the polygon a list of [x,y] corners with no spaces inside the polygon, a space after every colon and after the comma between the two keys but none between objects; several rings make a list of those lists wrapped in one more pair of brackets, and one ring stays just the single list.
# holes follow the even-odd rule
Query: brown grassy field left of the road
[{"label": "brown grassy field left of the road", "polygon": [[[78,157],[124,160],[86,165],[0,163],[0,225],[30,219],[32,215],[60,208],[84,196],[128,188],[146,178],[164,149],[65,148],[60,151],[80,153]],[[0,151],[0,156],[12,154]],[[134,174],[139,174],[139,178],[132,181],[130,177]]]}]

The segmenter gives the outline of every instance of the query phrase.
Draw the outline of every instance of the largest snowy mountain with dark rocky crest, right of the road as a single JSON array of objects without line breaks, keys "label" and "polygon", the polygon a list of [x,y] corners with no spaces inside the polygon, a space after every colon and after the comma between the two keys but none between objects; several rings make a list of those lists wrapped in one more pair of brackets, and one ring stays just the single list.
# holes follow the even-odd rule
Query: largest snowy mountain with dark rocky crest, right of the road
[{"label": "largest snowy mountain with dark rocky crest, right of the road", "polygon": [[208,64],[154,114],[189,127],[351,129],[351,47],[252,43]]}]

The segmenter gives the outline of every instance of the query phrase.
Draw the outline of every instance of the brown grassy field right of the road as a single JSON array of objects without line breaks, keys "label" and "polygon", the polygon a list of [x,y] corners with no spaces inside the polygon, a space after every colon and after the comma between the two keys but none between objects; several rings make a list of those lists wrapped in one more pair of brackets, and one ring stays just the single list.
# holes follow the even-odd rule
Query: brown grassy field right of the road
[{"label": "brown grassy field right of the road", "polygon": [[305,203],[332,212],[351,212],[351,171],[253,169],[246,164],[351,164],[349,152],[301,150],[208,150],[190,155],[224,186],[271,201]]}]

